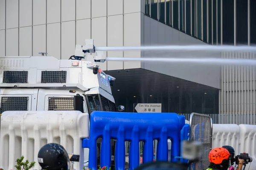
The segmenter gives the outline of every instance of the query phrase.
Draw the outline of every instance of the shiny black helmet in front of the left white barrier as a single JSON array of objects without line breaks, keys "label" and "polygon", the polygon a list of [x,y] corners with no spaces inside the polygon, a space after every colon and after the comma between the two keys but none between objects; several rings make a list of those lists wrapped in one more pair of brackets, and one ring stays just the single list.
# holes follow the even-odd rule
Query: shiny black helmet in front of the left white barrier
[{"label": "shiny black helmet in front of the left white barrier", "polygon": [[39,150],[38,163],[43,170],[70,170],[67,151],[55,143],[46,144]]}]

